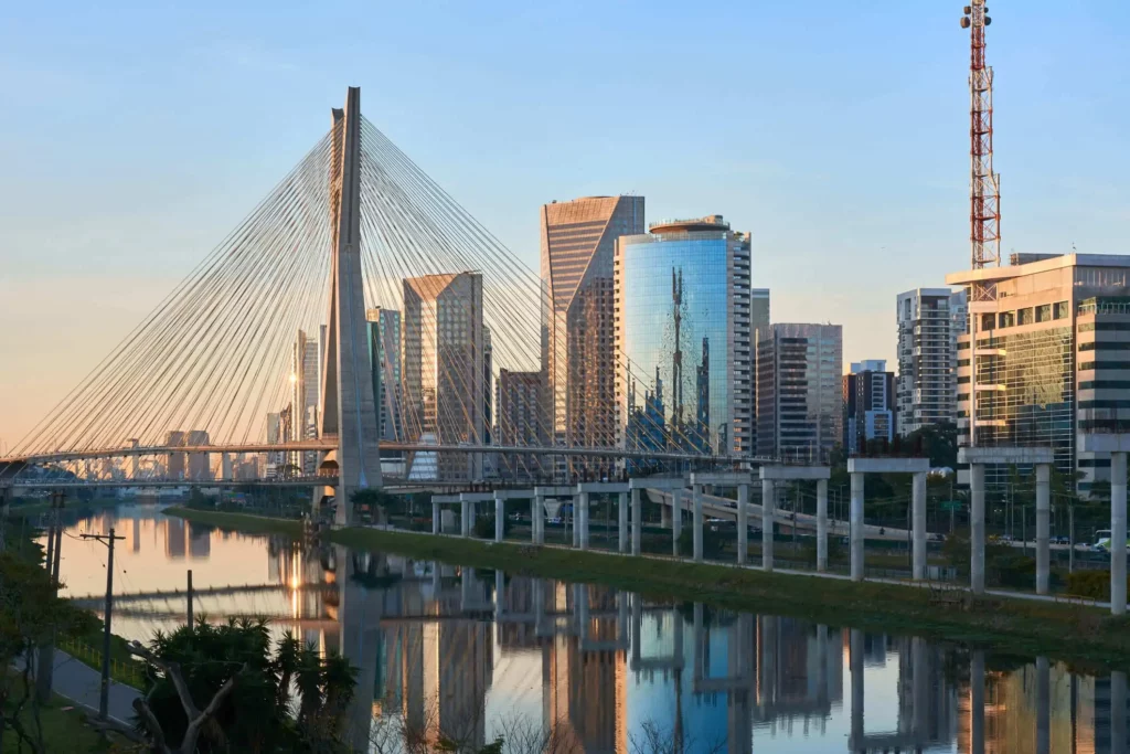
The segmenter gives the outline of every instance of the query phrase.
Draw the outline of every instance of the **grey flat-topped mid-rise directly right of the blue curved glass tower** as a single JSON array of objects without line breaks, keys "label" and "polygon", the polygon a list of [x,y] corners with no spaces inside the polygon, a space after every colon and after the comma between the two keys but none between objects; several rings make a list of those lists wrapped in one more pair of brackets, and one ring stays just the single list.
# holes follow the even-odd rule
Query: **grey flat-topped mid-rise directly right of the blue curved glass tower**
[{"label": "grey flat-topped mid-rise directly right of the blue curved glass tower", "polygon": [[757,344],[757,454],[827,461],[843,436],[843,328],[771,324]]}]

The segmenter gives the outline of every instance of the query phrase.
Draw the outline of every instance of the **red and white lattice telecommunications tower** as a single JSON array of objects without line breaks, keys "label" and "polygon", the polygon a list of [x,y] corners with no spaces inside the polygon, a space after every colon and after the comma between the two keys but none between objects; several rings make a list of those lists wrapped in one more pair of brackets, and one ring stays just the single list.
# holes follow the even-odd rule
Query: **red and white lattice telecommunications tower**
[{"label": "red and white lattice telecommunications tower", "polygon": [[1000,175],[992,171],[992,67],[985,66],[984,0],[965,6],[970,29],[970,243],[973,269],[1000,265]]}]

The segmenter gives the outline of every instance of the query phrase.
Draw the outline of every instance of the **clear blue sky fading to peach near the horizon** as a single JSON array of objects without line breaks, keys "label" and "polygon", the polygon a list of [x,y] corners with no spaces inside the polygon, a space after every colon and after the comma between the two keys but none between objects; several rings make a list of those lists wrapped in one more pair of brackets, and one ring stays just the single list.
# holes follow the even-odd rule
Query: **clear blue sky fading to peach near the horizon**
[{"label": "clear blue sky fading to peach near the horizon", "polygon": [[[1002,249],[1127,253],[1130,3],[996,0]],[[960,3],[576,0],[0,8],[0,452],[329,128],[363,111],[531,268],[538,208],[722,214],[773,320],[894,359],[968,266]]]}]

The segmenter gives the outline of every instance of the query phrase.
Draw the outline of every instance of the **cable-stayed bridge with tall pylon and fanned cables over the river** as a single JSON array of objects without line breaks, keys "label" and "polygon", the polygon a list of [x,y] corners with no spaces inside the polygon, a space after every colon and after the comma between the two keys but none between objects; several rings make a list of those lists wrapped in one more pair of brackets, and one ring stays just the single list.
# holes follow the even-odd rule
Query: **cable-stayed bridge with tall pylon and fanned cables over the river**
[{"label": "cable-stayed bridge with tall pylon and fanned cables over the river", "polygon": [[[550,382],[592,375],[549,374],[547,349],[596,336],[584,322],[556,332],[551,305],[539,275],[350,88],[329,132],[0,458],[0,487],[262,482],[310,484],[319,500],[759,460],[701,416],[664,421],[619,399],[597,406],[619,430],[579,425],[566,404],[603,398],[560,398]],[[650,365],[614,361],[608,380],[651,384]],[[518,375],[532,387],[501,410]]]}]

